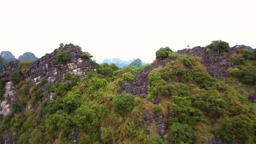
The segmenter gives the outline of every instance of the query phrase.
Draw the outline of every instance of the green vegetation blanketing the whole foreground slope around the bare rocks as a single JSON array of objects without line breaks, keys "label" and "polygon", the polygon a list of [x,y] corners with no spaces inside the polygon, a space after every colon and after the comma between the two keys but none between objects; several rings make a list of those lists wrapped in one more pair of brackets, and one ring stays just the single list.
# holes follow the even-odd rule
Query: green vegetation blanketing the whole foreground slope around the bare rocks
[{"label": "green vegetation blanketing the whole foreground slope around the bare rocks", "polygon": [[[251,52],[239,51],[243,62],[228,70],[231,77],[218,79],[200,58],[167,53],[173,61],[149,73],[148,93],[138,97],[118,90],[146,66],[103,63],[81,79],[65,73],[51,86],[45,78],[38,84],[25,80],[31,63],[22,62],[10,77],[18,96],[11,115],[1,119],[1,131],[15,134],[18,143],[205,143],[214,136],[255,143],[256,107],[247,99],[255,95]],[[50,93],[56,98],[45,100]],[[162,119],[148,119],[156,115]],[[158,135],[162,121],[164,139]]]}]

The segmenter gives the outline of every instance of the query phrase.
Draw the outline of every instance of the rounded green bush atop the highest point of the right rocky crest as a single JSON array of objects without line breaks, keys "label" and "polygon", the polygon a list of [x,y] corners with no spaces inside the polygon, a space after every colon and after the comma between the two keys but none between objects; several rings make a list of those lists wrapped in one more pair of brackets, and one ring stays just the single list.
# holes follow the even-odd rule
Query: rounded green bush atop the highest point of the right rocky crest
[{"label": "rounded green bush atop the highest point of the right rocky crest", "polygon": [[212,43],[208,46],[212,51],[219,51],[219,53],[228,53],[229,52],[229,43],[226,43],[222,40],[213,40]]}]

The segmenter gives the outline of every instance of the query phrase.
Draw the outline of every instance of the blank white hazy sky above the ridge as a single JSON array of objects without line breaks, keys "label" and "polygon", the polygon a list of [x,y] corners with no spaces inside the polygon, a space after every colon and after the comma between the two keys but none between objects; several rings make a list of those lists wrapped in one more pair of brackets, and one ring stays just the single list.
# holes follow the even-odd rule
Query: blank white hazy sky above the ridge
[{"label": "blank white hazy sky above the ridge", "polygon": [[212,40],[256,48],[256,1],[5,1],[0,0],[0,51],[37,57],[60,43],[79,45],[94,59],[177,51]]}]

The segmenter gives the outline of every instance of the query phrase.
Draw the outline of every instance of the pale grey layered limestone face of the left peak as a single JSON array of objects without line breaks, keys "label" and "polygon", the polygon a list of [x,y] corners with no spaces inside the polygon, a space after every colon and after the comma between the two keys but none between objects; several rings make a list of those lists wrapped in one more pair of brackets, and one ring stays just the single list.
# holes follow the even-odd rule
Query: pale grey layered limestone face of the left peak
[{"label": "pale grey layered limestone face of the left peak", "polygon": [[62,47],[60,50],[69,50],[71,59],[67,64],[58,65],[55,62],[55,56],[57,53],[56,49],[53,53],[46,53],[45,56],[38,59],[31,65],[31,72],[28,79],[34,80],[38,83],[40,79],[45,77],[48,83],[53,84],[57,80],[62,80],[64,78],[63,75],[66,72],[75,76],[83,77],[90,71],[96,70],[96,67],[91,63],[91,59],[85,61],[80,58],[80,55],[82,54],[81,47],[67,45]]}]

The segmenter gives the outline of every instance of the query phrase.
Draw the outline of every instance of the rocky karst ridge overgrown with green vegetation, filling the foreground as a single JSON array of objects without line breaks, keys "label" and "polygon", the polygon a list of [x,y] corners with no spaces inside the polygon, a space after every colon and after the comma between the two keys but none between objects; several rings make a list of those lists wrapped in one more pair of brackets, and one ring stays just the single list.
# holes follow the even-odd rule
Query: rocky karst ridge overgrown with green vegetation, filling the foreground
[{"label": "rocky karst ridge overgrown with green vegetation, filling the foreground", "polygon": [[[255,86],[248,81],[256,77],[254,53],[232,48],[223,56],[207,48],[170,52],[138,68],[94,65],[73,45],[34,63],[9,63],[2,79],[3,140],[254,143]],[[230,64],[217,65],[224,61]]]}]

